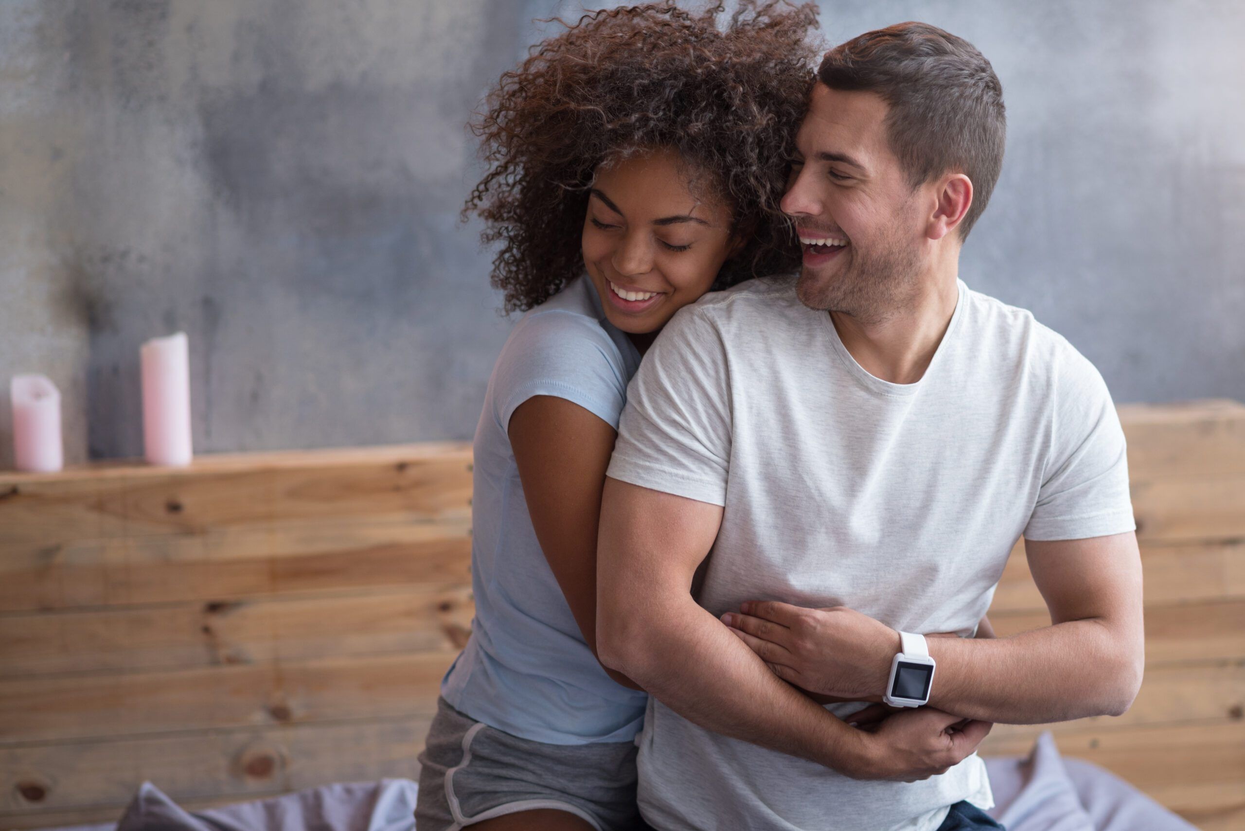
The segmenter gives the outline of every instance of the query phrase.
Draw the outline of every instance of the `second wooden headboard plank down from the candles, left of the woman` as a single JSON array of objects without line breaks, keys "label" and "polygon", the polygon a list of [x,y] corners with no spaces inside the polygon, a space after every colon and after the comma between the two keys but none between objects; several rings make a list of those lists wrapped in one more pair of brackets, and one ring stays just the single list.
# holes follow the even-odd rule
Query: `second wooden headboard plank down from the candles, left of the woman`
[{"label": "second wooden headboard plank down from the candles, left of the woman", "polygon": [[462,585],[469,534],[459,520],[342,519],[0,551],[0,613]]}]

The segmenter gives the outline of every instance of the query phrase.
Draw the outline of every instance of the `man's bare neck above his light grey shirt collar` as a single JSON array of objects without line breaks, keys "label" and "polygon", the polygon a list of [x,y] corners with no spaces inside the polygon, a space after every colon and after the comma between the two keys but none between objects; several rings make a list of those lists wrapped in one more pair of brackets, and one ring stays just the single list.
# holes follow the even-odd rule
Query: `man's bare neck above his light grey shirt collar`
[{"label": "man's bare neck above his light grey shirt collar", "polygon": [[869,374],[890,383],[916,383],[925,374],[955,312],[960,295],[956,276],[955,267],[926,275],[903,310],[878,322],[832,311],[830,320],[839,340]]}]

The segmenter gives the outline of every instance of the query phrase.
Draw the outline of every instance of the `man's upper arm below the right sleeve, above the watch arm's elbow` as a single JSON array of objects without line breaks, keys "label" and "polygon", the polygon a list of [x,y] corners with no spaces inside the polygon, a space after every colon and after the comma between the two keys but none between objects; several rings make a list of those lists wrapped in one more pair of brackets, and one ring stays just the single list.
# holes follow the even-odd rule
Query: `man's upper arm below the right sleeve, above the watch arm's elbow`
[{"label": "man's upper arm below the right sleeve, above the watch arm's elbow", "polygon": [[1086,618],[1140,624],[1142,560],[1133,531],[1082,540],[1025,540],[1051,623]]}]

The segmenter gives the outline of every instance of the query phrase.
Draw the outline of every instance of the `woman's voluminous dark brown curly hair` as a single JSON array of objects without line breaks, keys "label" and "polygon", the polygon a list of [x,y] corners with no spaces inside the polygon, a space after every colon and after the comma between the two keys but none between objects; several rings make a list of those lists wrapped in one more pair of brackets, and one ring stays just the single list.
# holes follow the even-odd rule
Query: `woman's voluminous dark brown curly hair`
[{"label": "woman's voluminous dark brown curly hair", "polygon": [[672,1],[596,11],[502,76],[472,123],[488,174],[463,218],[478,214],[483,241],[502,244],[493,285],[505,312],[540,305],[583,271],[598,165],[645,149],[675,149],[731,209],[746,243],[715,289],[796,267],[778,202],[815,78],[817,6],[740,0],[720,29],[722,12]]}]

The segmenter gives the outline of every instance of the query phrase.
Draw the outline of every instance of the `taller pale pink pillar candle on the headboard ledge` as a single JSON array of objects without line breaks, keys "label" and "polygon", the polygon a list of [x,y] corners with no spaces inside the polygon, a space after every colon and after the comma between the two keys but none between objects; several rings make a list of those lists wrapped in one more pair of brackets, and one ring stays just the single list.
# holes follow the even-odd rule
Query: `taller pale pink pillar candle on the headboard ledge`
[{"label": "taller pale pink pillar candle on the headboard ledge", "polygon": [[147,462],[190,464],[190,357],[186,332],[147,341],[139,357]]}]

